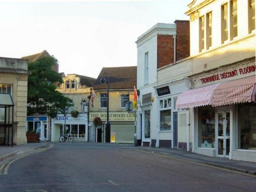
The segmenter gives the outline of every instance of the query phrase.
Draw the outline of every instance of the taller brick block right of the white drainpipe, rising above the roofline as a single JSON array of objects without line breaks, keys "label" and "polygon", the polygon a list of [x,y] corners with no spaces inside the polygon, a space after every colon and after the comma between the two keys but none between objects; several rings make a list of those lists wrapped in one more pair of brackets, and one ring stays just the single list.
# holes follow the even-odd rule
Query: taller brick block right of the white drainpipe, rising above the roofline
[{"label": "taller brick block right of the white drainpipe, rising above the roofline", "polygon": [[189,57],[189,20],[176,20],[176,61]]}]

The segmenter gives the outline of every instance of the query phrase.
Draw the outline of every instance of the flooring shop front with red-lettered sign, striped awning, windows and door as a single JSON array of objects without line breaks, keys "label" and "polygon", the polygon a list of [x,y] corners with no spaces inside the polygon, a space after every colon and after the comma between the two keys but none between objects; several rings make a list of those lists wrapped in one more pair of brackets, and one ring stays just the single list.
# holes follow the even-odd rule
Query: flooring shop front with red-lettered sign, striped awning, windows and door
[{"label": "flooring shop front with red-lettered sign, striped awning, windows and door", "polygon": [[193,152],[256,162],[255,62],[191,82],[195,89],[178,96],[176,109],[191,112]]}]

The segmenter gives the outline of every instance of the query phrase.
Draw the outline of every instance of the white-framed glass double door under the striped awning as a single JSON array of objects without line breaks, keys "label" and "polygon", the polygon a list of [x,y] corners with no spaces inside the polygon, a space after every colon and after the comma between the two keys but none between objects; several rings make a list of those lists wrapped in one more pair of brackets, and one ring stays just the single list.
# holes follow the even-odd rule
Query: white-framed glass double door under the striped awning
[{"label": "white-framed glass double door under the striped awning", "polygon": [[218,157],[229,157],[230,152],[230,112],[217,113],[217,152]]}]

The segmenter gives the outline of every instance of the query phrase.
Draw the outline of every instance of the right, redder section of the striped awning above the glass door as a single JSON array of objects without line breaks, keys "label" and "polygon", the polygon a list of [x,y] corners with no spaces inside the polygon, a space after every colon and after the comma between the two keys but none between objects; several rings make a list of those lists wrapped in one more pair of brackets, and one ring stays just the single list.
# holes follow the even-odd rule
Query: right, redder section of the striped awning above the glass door
[{"label": "right, redder section of the striped awning above the glass door", "polygon": [[255,76],[221,83],[212,96],[212,106],[256,102],[255,84]]}]

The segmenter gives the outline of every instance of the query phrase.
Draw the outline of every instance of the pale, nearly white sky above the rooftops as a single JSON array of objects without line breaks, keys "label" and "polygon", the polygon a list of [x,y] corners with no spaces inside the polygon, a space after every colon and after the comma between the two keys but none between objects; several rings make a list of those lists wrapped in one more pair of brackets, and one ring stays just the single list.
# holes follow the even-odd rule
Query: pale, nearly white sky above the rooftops
[{"label": "pale, nearly white sky above the rooftops", "polygon": [[97,78],[103,67],[137,66],[137,38],[173,24],[192,0],[0,0],[0,57],[47,50],[59,72]]}]

